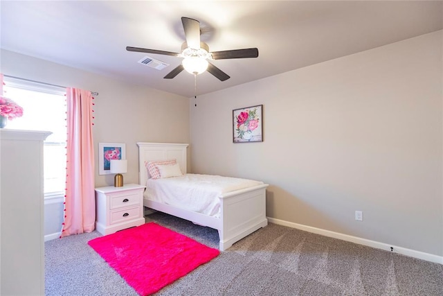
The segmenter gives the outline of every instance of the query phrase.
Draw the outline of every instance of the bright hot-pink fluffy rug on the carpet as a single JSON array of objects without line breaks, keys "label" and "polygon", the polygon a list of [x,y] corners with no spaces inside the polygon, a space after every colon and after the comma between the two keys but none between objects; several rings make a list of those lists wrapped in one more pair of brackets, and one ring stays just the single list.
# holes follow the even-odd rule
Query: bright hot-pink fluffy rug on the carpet
[{"label": "bright hot-pink fluffy rug on the carpet", "polygon": [[156,223],[100,236],[88,244],[140,295],[156,293],[219,254]]}]

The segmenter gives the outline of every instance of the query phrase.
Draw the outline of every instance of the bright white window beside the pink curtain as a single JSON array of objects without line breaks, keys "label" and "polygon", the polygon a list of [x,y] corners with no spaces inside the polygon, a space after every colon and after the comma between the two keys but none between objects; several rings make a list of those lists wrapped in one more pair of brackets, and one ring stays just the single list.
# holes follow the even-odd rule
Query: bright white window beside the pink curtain
[{"label": "bright white window beside the pink curtain", "polygon": [[64,194],[66,182],[66,89],[28,80],[4,78],[3,95],[23,107],[23,116],[6,128],[53,132],[44,141],[45,198]]}]

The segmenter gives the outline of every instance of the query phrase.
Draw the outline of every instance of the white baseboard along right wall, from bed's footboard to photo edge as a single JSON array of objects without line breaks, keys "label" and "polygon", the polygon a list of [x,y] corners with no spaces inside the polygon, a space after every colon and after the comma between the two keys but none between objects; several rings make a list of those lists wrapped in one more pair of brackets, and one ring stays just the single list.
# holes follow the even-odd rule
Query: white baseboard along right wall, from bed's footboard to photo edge
[{"label": "white baseboard along right wall, from bed's footboard to photo edge", "polygon": [[342,241],[350,241],[351,243],[358,243],[360,245],[367,245],[368,247],[375,247],[377,249],[386,250],[386,251],[390,251],[390,252],[391,252],[391,247],[392,247],[393,248],[392,252],[402,254],[405,256],[414,257],[417,259],[422,259],[422,260],[431,261],[434,263],[443,264],[443,256],[437,256],[434,254],[428,254],[428,253],[424,253],[424,252],[420,252],[420,251],[410,250],[410,249],[406,249],[406,247],[399,247],[397,245],[388,245],[387,243],[380,243],[378,241],[371,241],[371,240],[368,240],[365,238],[359,238],[357,236],[350,236],[350,235],[341,234],[338,232],[331,232],[329,230],[311,227],[311,226],[307,226],[307,225],[302,225],[302,224],[298,224],[298,223],[292,223],[292,222],[288,222],[285,220],[269,218],[269,217],[266,217],[266,218],[268,218],[269,222],[275,223],[278,225],[296,228],[296,229],[304,230],[305,232],[312,232],[314,234],[321,234],[323,236],[328,236],[328,237],[332,237],[332,238],[338,238],[338,239],[341,239]]}]

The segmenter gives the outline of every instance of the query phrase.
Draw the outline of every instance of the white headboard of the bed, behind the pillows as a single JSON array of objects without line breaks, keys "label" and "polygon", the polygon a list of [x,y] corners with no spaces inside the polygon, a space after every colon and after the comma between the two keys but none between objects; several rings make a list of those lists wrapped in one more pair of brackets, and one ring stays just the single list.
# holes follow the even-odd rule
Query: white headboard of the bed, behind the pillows
[{"label": "white headboard of the bed, behind the pillows", "polygon": [[150,160],[177,159],[181,173],[187,173],[186,148],[183,143],[143,143],[138,142],[138,182],[146,185],[148,179],[145,162]]}]

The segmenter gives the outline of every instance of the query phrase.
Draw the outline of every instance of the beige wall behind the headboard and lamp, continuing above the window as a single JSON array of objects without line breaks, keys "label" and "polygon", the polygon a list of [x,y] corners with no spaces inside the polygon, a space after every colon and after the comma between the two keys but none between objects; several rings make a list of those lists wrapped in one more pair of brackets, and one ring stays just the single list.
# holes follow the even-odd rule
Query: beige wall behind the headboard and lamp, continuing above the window
[{"label": "beige wall behind the headboard and lamp, continuing above the window", "polygon": [[188,98],[132,85],[87,71],[1,50],[1,73],[98,92],[93,125],[96,186],[114,184],[98,175],[98,143],[126,143],[125,183],[138,183],[138,141],[188,143]]}]

